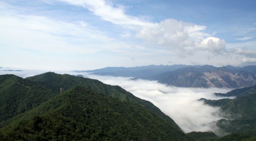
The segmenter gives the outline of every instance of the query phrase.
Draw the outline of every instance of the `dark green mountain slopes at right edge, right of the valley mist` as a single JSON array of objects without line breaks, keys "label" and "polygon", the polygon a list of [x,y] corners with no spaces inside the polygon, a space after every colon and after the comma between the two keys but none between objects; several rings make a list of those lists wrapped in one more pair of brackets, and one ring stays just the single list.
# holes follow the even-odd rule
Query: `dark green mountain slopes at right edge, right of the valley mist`
[{"label": "dark green mountain slopes at right edge, right of the valley mist", "polygon": [[216,122],[220,132],[256,136],[256,86],[235,89],[228,92],[227,96],[237,96],[237,98],[200,100],[203,100],[208,105],[221,107],[221,111],[226,119]]}]

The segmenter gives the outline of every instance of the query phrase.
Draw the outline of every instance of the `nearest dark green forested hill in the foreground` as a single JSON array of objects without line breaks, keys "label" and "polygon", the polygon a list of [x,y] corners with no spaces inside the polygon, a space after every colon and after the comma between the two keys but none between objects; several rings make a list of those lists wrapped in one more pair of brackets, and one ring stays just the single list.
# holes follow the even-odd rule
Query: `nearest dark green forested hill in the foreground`
[{"label": "nearest dark green forested hill in the foreground", "polygon": [[188,140],[172,122],[134,102],[75,86],[1,129],[1,140]]}]

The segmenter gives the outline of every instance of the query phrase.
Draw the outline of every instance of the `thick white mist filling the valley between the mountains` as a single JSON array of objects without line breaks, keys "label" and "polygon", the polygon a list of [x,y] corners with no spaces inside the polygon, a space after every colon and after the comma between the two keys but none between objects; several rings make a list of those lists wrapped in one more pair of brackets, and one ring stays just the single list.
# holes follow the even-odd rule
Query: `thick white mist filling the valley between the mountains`
[{"label": "thick white mist filling the valley between the mountains", "polygon": [[[109,85],[121,86],[135,96],[152,102],[166,115],[170,116],[181,129],[192,131],[213,131],[217,134],[218,127],[213,121],[224,118],[219,107],[205,105],[200,98],[218,100],[214,92],[228,92],[231,89],[221,88],[180,88],[167,86],[157,81],[130,80],[126,77],[111,77],[83,74]],[[229,97],[234,98],[234,97]]]}]

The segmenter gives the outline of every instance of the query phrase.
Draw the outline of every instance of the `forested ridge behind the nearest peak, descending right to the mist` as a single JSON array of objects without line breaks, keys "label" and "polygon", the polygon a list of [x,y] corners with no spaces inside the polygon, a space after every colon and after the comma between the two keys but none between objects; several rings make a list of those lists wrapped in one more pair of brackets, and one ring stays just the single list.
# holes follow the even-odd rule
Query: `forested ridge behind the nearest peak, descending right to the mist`
[{"label": "forested ridge behind the nearest peak, descending right to the mist", "polygon": [[[68,74],[60,75],[55,74],[54,72],[46,72],[44,74],[35,75],[34,77],[28,77],[26,79],[38,82],[55,92],[59,92],[60,88],[66,90],[77,85],[85,86],[86,88],[89,88],[97,93],[112,96],[122,101],[139,103],[143,107],[156,113],[158,116],[163,117],[166,120],[173,122],[174,125],[176,125],[176,123],[169,116],[166,116],[159,108],[155,107],[155,105],[153,105],[151,102],[133,96],[133,94],[125,91],[120,86],[106,85],[98,80],[74,77]],[[178,127],[178,125],[176,125],[176,127]]]}]

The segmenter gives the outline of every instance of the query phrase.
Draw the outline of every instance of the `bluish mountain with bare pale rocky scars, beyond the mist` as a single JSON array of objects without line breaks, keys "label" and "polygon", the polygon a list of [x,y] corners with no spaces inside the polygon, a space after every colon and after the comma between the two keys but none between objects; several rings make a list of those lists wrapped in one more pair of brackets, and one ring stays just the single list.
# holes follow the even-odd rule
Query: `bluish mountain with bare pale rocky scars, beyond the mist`
[{"label": "bluish mountain with bare pale rocky scars, beyond the mist", "polygon": [[224,69],[179,73],[158,81],[173,86],[203,88],[242,88],[256,85],[254,74],[246,71],[229,72]]}]

